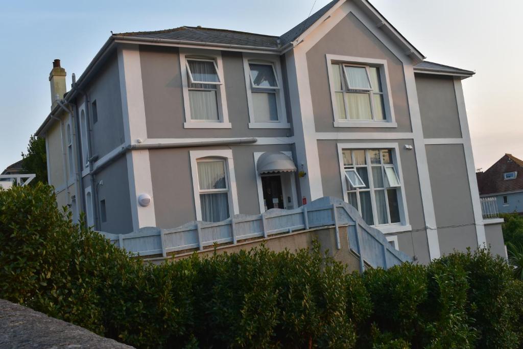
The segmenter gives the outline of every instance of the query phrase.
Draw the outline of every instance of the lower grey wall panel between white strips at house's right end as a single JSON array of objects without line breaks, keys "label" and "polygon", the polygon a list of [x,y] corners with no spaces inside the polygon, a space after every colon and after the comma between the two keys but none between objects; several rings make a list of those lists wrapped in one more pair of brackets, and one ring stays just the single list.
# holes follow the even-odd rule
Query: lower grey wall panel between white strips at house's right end
[{"label": "lower grey wall panel between white strips at house's right end", "polygon": [[426,145],[441,254],[477,246],[462,144]]}]

